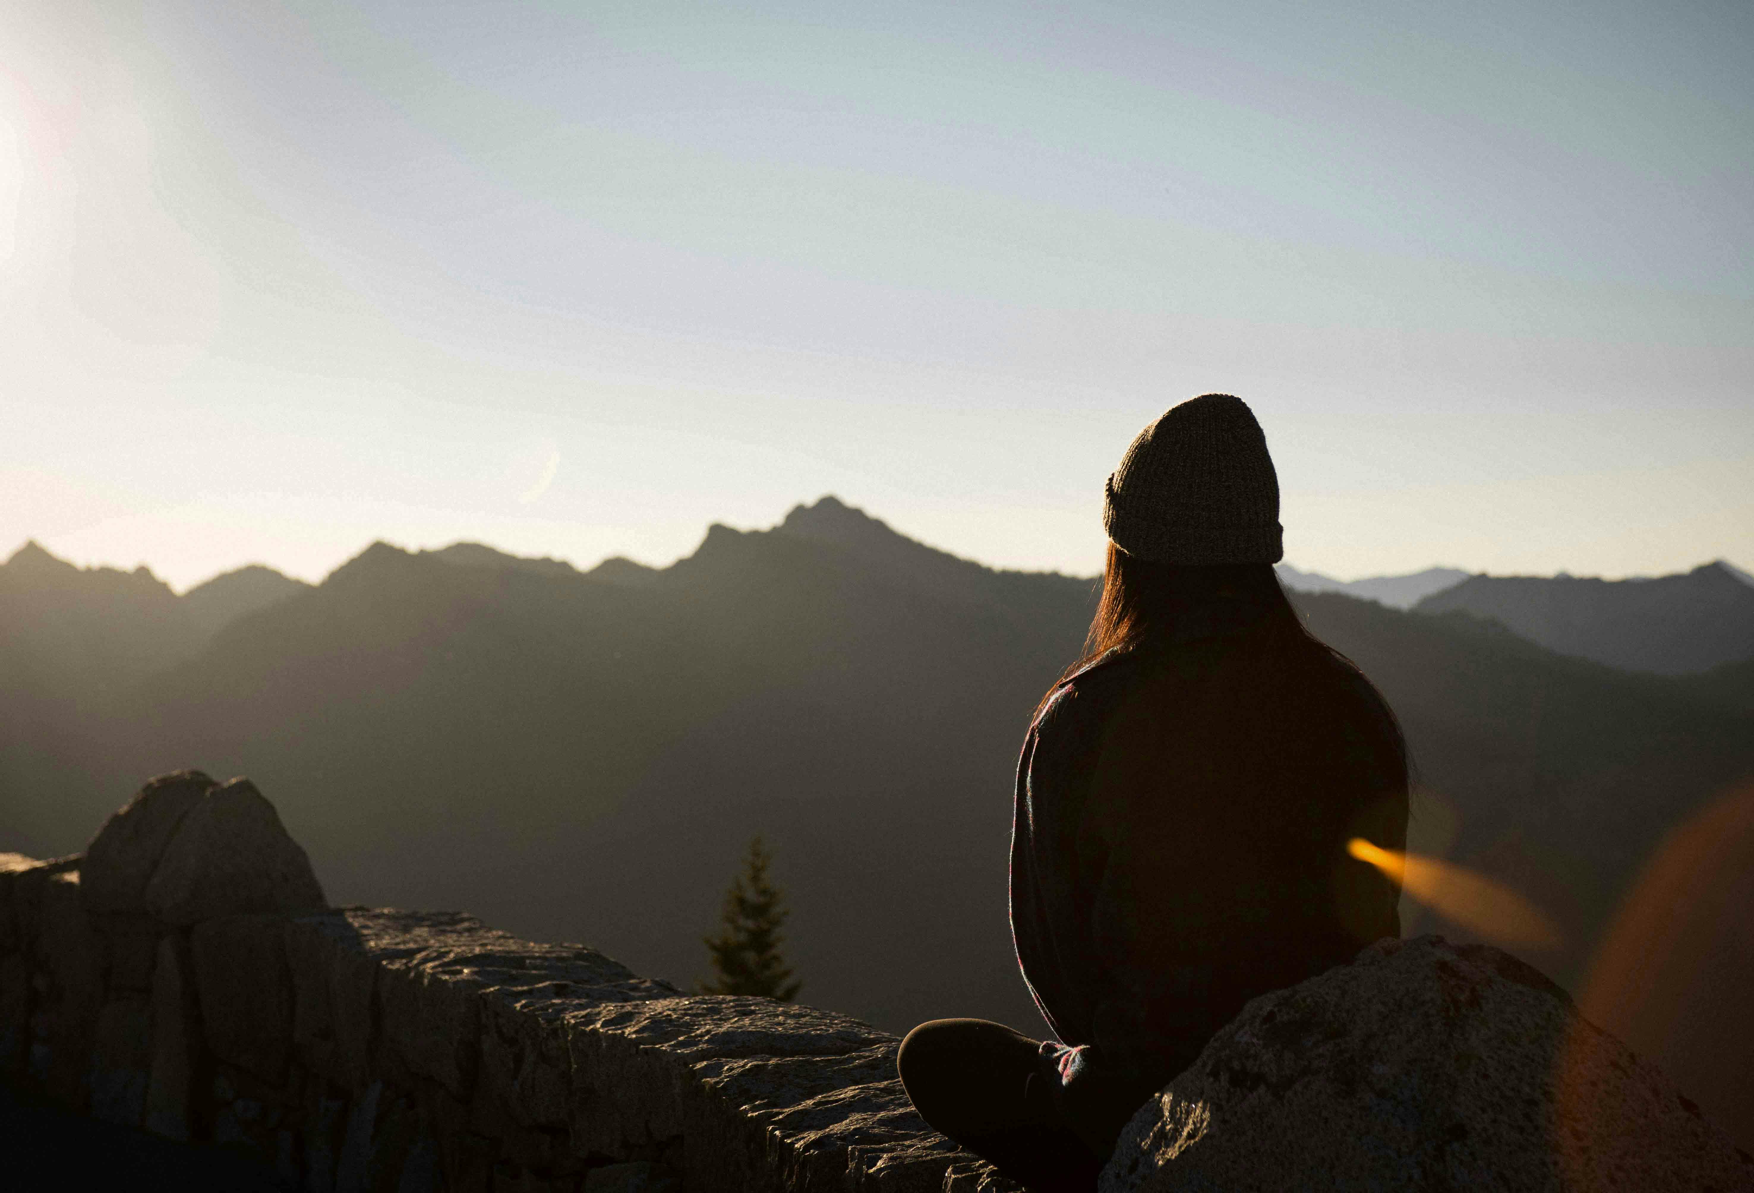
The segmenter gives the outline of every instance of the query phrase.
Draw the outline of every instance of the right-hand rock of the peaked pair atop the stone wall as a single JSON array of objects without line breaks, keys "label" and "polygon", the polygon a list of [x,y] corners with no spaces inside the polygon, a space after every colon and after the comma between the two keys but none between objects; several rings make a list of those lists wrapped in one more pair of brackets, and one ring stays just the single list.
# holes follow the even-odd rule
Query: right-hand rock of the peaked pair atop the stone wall
[{"label": "right-hand rock of the peaked pair atop the stone wall", "polygon": [[310,858],[249,779],[214,788],[184,814],[146,886],[147,911],[177,926],[326,905]]}]

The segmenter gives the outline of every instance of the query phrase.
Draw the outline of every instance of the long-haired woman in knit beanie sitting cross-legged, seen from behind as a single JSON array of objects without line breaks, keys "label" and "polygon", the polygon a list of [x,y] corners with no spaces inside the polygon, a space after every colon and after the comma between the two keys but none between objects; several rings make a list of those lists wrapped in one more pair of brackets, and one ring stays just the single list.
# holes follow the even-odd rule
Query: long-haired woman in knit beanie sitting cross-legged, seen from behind
[{"label": "long-haired woman in knit beanie sitting cross-legged, seen from behind", "polygon": [[1347,853],[1407,839],[1387,705],[1314,639],[1266,439],[1209,393],[1109,477],[1086,656],[1017,767],[1010,923],[1058,1040],[935,1019],[902,1042],[935,1128],[1035,1189],[1091,1189],[1128,1118],[1256,995],[1400,935],[1400,891]]}]

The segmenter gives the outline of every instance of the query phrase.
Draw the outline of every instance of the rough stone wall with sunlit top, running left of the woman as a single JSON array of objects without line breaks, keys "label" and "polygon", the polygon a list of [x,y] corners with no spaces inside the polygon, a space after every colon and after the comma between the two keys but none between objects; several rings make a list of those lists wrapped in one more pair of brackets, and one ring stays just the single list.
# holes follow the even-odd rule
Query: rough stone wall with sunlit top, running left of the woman
[{"label": "rough stone wall with sunlit top, running left of the woman", "polygon": [[468,916],[326,909],[247,781],[167,775],[82,856],[0,854],[5,1079],[289,1188],[1016,1189],[914,1114],[895,1051]]}]

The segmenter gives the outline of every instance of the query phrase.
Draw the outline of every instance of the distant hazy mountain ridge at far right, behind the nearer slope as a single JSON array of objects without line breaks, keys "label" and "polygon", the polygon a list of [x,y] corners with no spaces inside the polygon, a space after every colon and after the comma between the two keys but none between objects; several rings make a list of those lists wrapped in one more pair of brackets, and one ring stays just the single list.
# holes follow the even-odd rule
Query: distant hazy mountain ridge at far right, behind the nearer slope
[{"label": "distant hazy mountain ridge at far right, behind the nearer slope", "polygon": [[1680,575],[1473,575],[1419,602],[1466,611],[1561,654],[1680,675],[1754,658],[1754,586],[1724,563]]}]

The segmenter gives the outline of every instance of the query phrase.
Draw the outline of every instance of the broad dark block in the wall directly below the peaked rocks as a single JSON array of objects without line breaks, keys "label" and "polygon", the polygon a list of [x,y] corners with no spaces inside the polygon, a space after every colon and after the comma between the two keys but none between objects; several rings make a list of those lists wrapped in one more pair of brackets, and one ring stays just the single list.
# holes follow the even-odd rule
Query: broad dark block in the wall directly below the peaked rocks
[{"label": "broad dark block in the wall directly below the peaked rocks", "polygon": [[274,916],[219,916],[189,933],[207,1046],[219,1060],[270,1084],[286,1075],[293,1046],[284,923]]}]

